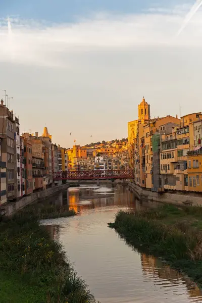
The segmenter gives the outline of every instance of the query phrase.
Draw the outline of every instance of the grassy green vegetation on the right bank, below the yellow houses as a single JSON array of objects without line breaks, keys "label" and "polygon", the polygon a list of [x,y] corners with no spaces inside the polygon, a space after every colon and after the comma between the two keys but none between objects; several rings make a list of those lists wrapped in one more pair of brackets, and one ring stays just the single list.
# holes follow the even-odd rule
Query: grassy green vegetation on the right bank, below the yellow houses
[{"label": "grassy green vegetation on the right bank, below the yellow houses", "polygon": [[163,257],[202,285],[202,208],[164,205],[142,212],[120,211],[109,226],[130,245]]}]

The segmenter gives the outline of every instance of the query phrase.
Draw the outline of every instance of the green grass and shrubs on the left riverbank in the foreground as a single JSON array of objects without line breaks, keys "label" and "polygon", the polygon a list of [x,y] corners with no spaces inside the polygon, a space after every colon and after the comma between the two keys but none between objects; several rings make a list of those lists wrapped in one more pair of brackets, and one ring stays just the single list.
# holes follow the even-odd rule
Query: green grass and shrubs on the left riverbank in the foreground
[{"label": "green grass and shrubs on the left riverbank in the foreground", "polygon": [[[56,207],[28,207],[1,218],[1,303],[94,303],[85,282],[70,265],[62,245],[51,240],[38,219],[56,216]],[[62,211],[57,215],[74,215]]]}]

